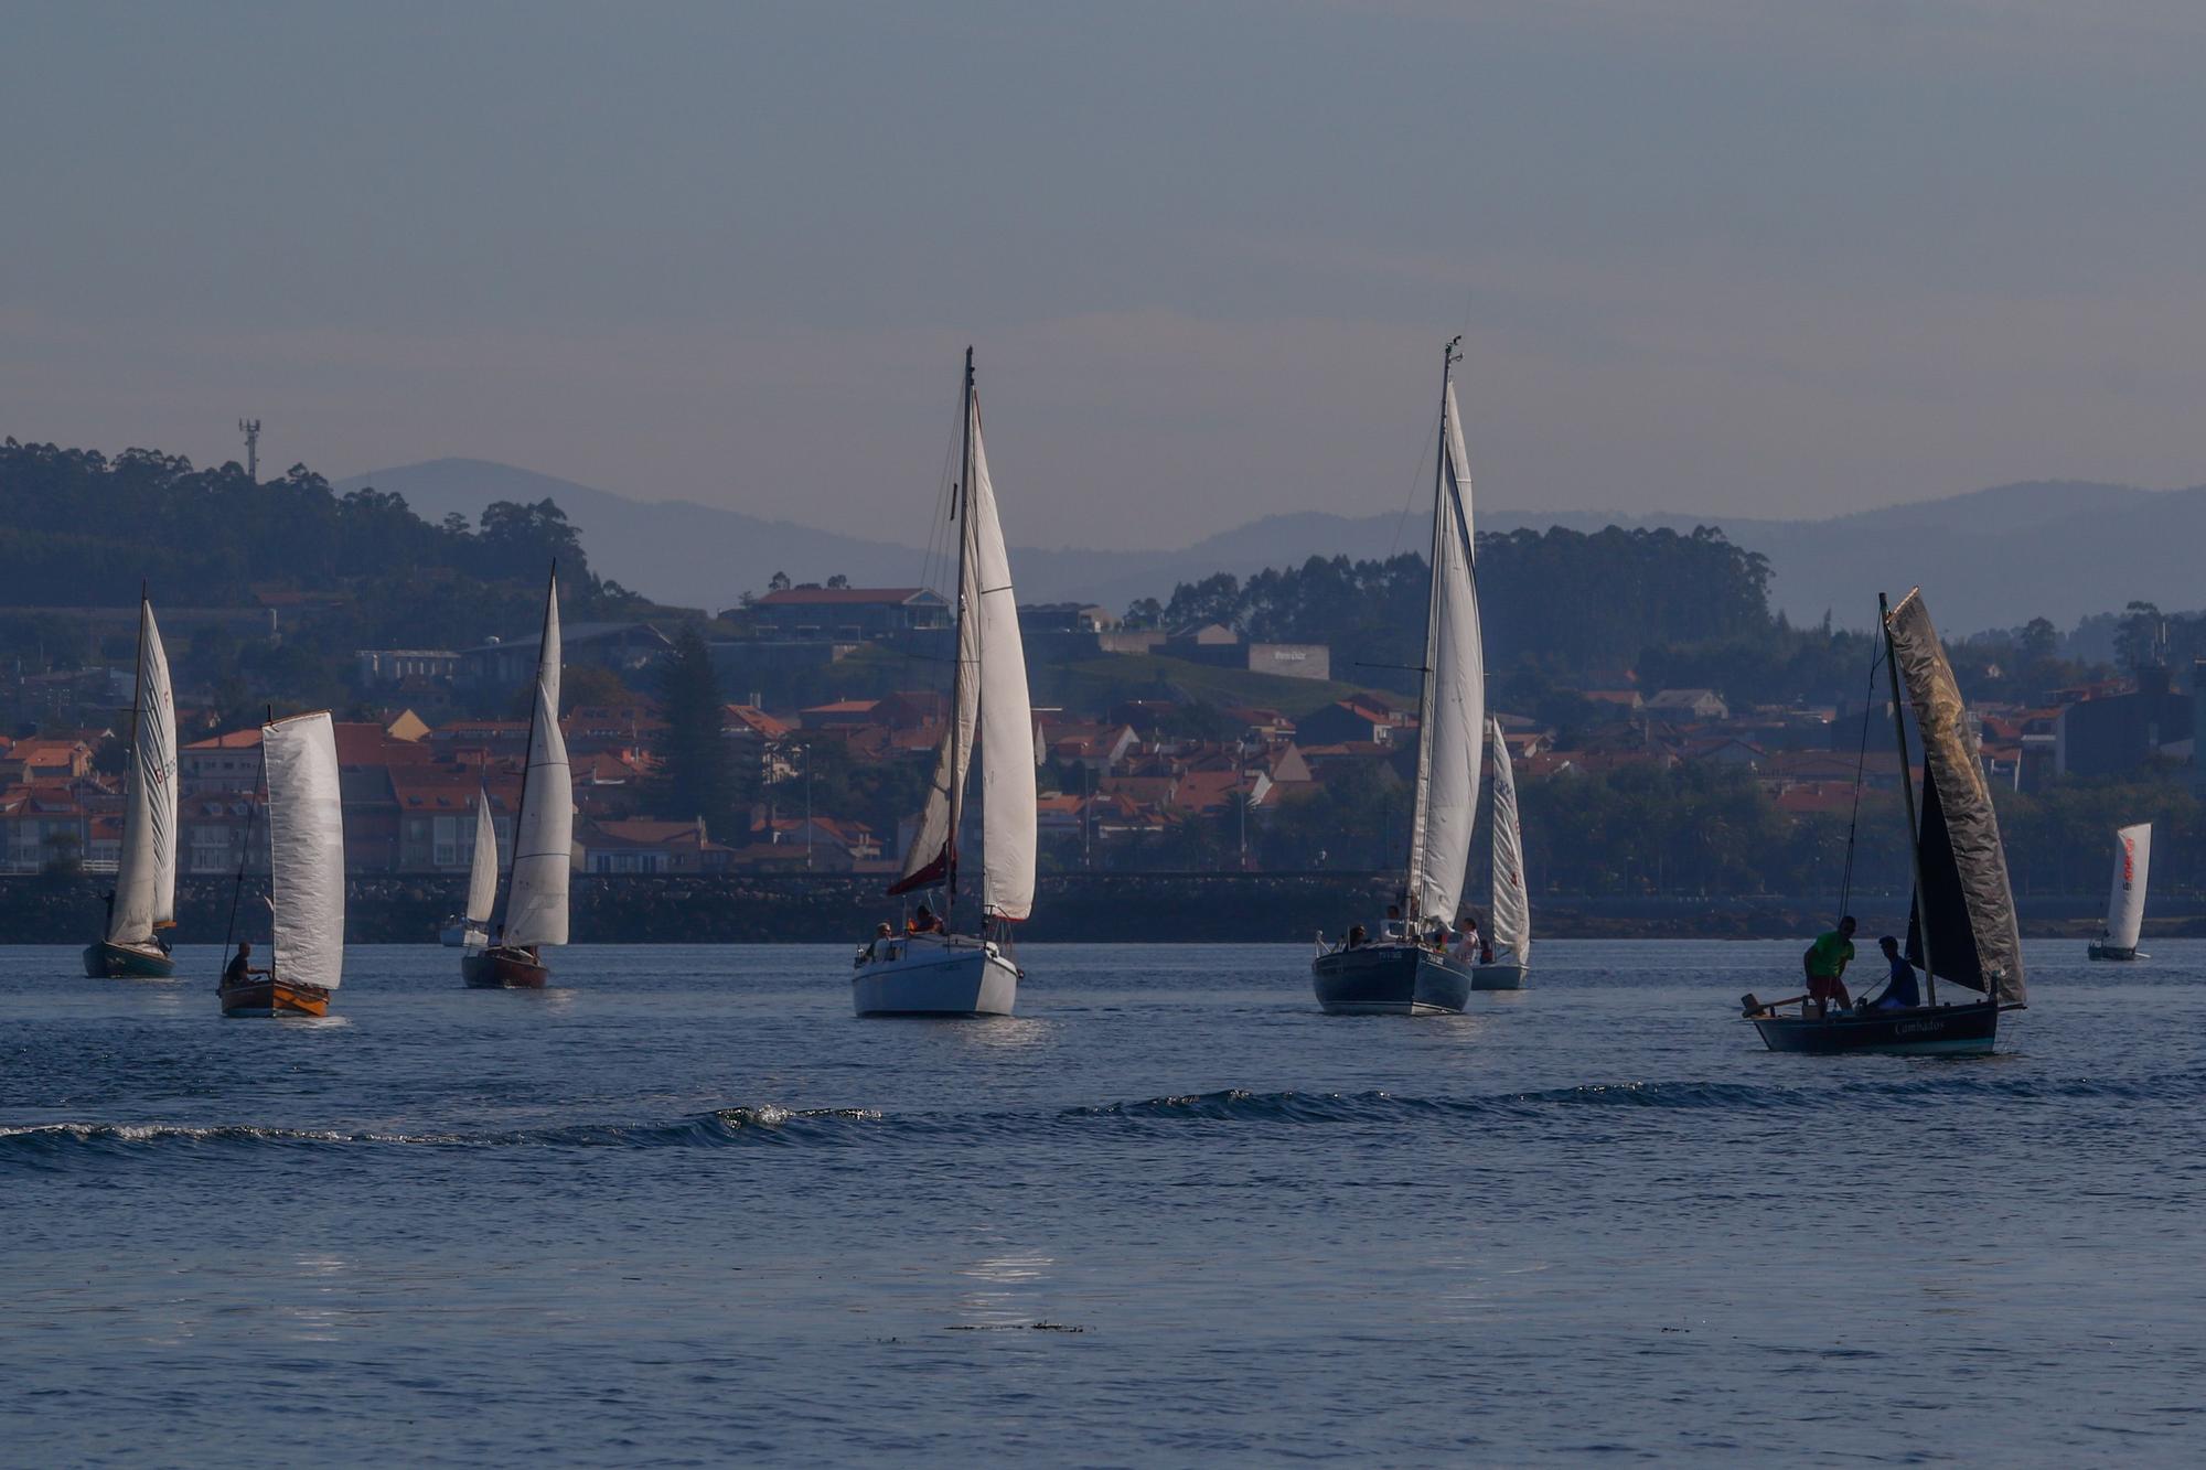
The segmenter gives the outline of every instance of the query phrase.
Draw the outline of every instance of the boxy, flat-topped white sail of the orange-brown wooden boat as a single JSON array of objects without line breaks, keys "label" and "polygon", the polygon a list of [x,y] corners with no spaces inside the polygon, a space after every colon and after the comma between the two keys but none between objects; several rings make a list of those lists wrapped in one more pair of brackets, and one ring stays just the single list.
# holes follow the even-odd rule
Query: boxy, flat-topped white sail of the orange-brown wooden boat
[{"label": "boxy, flat-topped white sail of the orange-brown wooden boat", "polygon": [[344,980],[344,797],[329,711],[260,726],[269,781],[269,887],[278,980]]}]

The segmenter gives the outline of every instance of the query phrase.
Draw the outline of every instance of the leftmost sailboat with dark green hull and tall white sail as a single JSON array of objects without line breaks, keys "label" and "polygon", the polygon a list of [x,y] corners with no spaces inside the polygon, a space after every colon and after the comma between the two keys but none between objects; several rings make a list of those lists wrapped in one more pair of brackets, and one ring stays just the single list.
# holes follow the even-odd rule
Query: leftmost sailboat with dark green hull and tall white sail
[{"label": "leftmost sailboat with dark green hull and tall white sail", "polygon": [[176,973],[161,936],[176,927],[176,693],[168,682],[168,653],[143,589],[126,790],[108,931],[84,947],[84,973],[165,980]]}]

